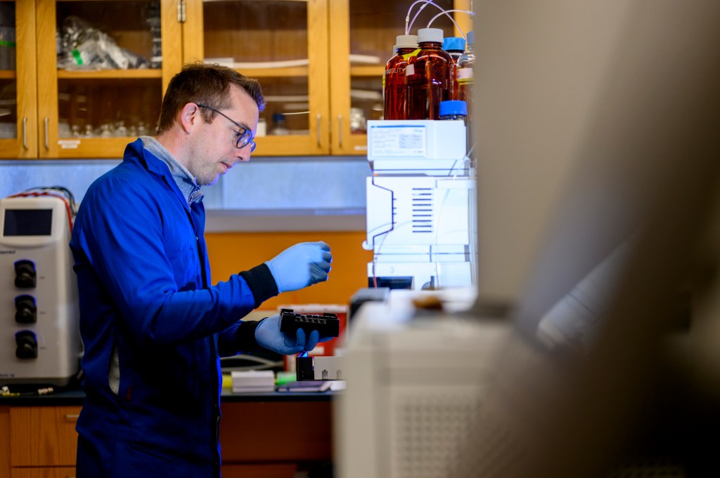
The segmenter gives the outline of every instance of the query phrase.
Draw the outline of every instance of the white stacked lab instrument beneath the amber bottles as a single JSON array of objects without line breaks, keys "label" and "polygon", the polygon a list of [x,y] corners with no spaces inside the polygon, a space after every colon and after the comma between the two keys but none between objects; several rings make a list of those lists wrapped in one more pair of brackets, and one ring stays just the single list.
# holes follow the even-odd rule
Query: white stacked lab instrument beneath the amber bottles
[{"label": "white stacked lab instrument beneath the amber bottles", "polygon": [[369,286],[472,285],[475,178],[464,121],[368,121],[368,161]]}]

